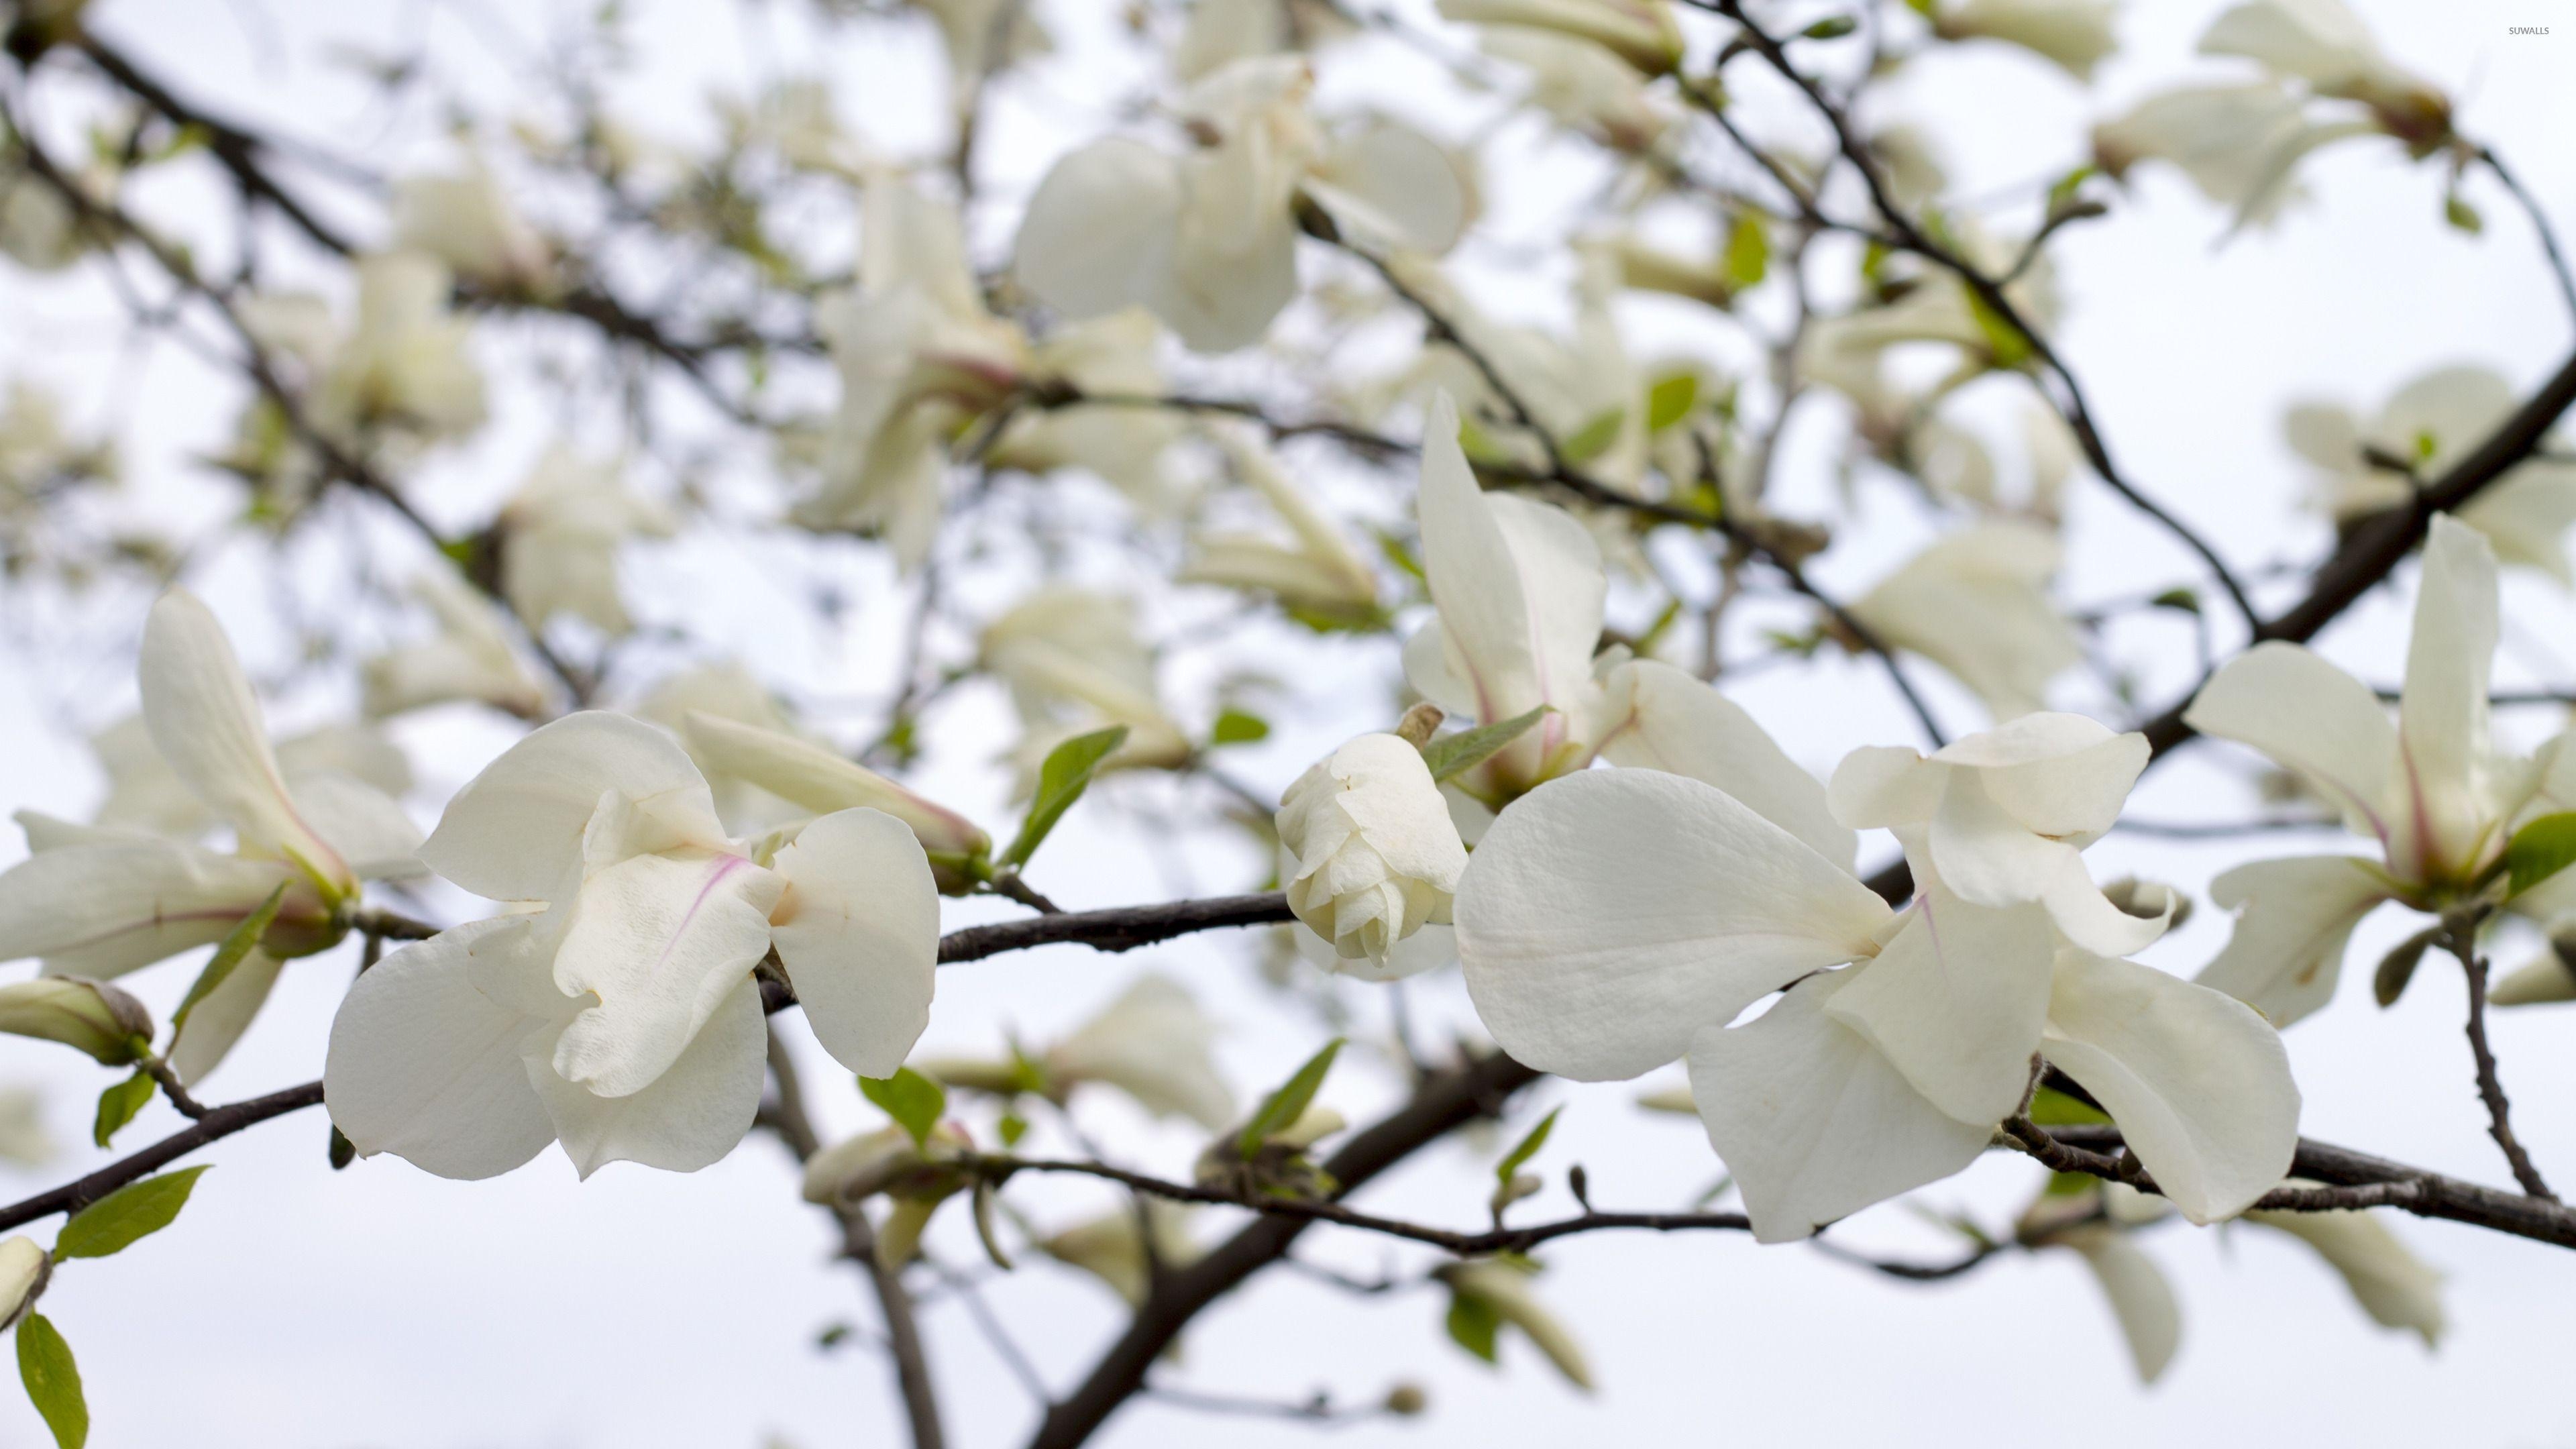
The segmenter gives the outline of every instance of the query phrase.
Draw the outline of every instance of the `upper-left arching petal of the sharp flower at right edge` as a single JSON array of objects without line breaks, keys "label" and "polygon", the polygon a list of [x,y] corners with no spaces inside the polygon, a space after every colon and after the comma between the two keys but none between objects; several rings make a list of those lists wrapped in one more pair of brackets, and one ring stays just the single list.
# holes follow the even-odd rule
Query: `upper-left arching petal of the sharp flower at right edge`
[{"label": "upper-left arching petal of the sharp flower at right edge", "polygon": [[2391,779],[2398,732],[2370,686],[2300,645],[2264,642],[2200,686],[2182,722],[2254,745],[2303,776],[2354,830],[2391,841]]}]

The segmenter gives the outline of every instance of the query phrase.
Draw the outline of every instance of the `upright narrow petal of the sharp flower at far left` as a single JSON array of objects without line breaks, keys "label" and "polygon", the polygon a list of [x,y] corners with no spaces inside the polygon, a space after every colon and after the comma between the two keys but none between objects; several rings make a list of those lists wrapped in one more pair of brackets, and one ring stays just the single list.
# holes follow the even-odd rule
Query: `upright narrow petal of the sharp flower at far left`
[{"label": "upright narrow petal of the sharp flower at far left", "polygon": [[152,745],[240,833],[245,851],[301,861],[319,884],[348,890],[340,853],[286,794],[232,639],[193,593],[173,588],[152,606],[137,678]]}]

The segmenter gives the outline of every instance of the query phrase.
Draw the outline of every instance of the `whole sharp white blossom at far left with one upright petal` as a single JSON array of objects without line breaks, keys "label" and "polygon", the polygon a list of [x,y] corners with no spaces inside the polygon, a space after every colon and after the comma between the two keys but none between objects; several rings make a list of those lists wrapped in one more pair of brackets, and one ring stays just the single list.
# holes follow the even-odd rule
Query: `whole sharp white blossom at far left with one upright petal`
[{"label": "whole sharp white blossom at far left with one upright petal", "polygon": [[196,596],[170,590],[152,606],[137,676],[162,763],[232,828],[234,848],[21,812],[31,853],[0,874],[0,959],[118,977],[222,941],[276,895],[268,931],[173,1049],[180,1078],[196,1080],[250,1026],[281,962],[348,933],[361,879],[417,871],[420,833],[353,776],[281,771],[232,642]]}]

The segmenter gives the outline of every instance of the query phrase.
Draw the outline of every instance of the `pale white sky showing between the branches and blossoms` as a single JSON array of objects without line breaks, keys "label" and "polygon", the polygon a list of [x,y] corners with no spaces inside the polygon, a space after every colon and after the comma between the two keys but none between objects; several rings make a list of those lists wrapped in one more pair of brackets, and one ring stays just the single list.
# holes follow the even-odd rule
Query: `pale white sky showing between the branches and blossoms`
[{"label": "pale white sky showing between the branches and blossoms", "polygon": [[[327,3],[242,0],[240,5],[144,5],[103,0],[98,23],[183,77],[196,95],[240,113],[283,119],[301,134],[363,150],[371,162],[430,162],[435,116],[376,113],[319,64],[322,39],[368,46],[425,39],[440,75],[492,101],[528,95],[536,39],[567,28],[580,8],[551,18],[533,5],[384,8],[350,15]],[[374,8],[366,8],[374,10]],[[621,113],[667,137],[703,134],[708,88],[734,93],[822,70],[845,88],[845,116],[891,152],[935,139],[881,124],[889,113],[935,113],[938,54],[925,26],[868,23],[814,44],[788,5],[775,13],[732,5],[636,5],[641,72],[621,93]],[[1087,5],[1043,5],[1059,31],[1084,31]],[[1929,121],[1947,142],[1960,196],[2017,188],[2076,160],[2081,124],[2182,75],[2190,41],[2215,0],[2136,3],[2123,21],[2123,59],[2092,95],[2053,70],[2002,52],[1950,52],[1927,59],[1883,98],[1886,116]],[[2460,98],[2463,129],[2494,142],[2535,193],[2576,235],[2576,23],[2550,39],[2509,39],[2506,23],[2571,21],[2540,0],[2458,0],[2442,5],[2357,0],[2388,49]],[[1814,8],[1816,15],[1826,13]],[[1079,15],[1079,18],[1077,18]],[[1808,10],[1795,13],[1798,21]],[[989,201],[979,217],[987,258],[999,260],[1018,196],[1048,157],[1105,124],[1097,98],[1133,72],[1105,70],[1097,52],[1069,36],[1069,54],[1007,88],[989,139]],[[1329,52],[1332,98],[1386,98],[1435,131],[1463,137],[1486,101],[1422,85],[1425,70],[1386,46]],[[1741,67],[1749,72],[1752,67]],[[909,101],[907,101],[909,98]],[[1757,95],[1759,101],[1759,95]],[[1770,111],[1777,113],[1777,111]],[[1515,131],[1528,139],[1528,129]],[[1528,147],[1522,147],[1525,152]],[[1525,255],[1515,237],[1543,235],[1546,219],[1589,178],[1579,152],[1546,147],[1512,173],[1535,201],[1507,199],[1486,235],[1468,245],[1466,271],[1486,284],[1497,309],[1553,307],[1561,286],[1499,284]],[[2254,565],[2313,559],[2326,531],[2298,513],[2303,469],[2280,443],[2277,415],[2295,397],[2375,407],[2393,387],[2450,361],[2478,361],[2517,387],[2543,376],[2568,348],[2568,317],[2537,260],[2530,229],[2486,180],[2470,199],[2486,214],[2483,240],[2439,219],[2439,178],[2411,168],[2393,144],[2357,142],[2321,152],[2306,168],[2316,201],[2275,232],[2215,240],[2223,217],[2172,173],[2146,175],[2112,219],[2076,227],[2053,248],[2071,299],[2061,340],[2087,379],[2115,454],[2161,500],[2205,529],[2228,557]],[[1499,183],[1494,183],[1499,186]],[[1492,186],[1489,186],[1492,191]],[[2027,186],[2022,186],[2027,196]],[[198,201],[204,193],[196,193]],[[152,214],[193,219],[191,193],[155,193]],[[1314,260],[1314,258],[1309,258]],[[1533,302],[1535,299],[1535,302]],[[95,284],[72,289],[0,278],[0,366],[57,379],[82,418],[126,423],[131,474],[142,498],[173,518],[206,518],[227,490],[185,464],[216,449],[237,389],[214,384],[175,351],[142,369],[121,366],[113,299]],[[1680,309],[1636,299],[1625,312],[1641,356],[1705,345],[1708,333]],[[507,356],[497,330],[492,356]],[[1216,376],[1239,374],[1213,369]],[[1999,389],[2007,384],[1989,384]],[[466,523],[515,485],[551,418],[495,387],[500,425],[471,451],[443,456],[415,485],[440,521]],[[2012,418],[2002,397],[1984,400],[1991,436]],[[685,405],[680,405],[685,407]],[[1814,431],[1808,431],[1814,433]],[[613,438],[598,436],[605,446]],[[1819,446],[1790,456],[1790,511],[1821,511],[1829,490]],[[1355,472],[1329,454],[1298,454],[1332,477],[1334,498],[1394,518],[1409,480]],[[2009,469],[2009,464],[2007,464]],[[757,516],[760,459],[716,467],[739,487],[729,516]],[[1079,500],[1100,495],[1074,492]],[[1927,521],[1886,482],[1862,492],[1868,539],[1837,549],[1819,578],[1855,593],[1927,531]],[[2097,601],[2190,583],[2190,559],[2154,536],[2099,485],[2074,485],[2066,598]],[[386,534],[392,539],[392,534]],[[392,557],[399,554],[399,549]],[[283,637],[255,575],[258,557],[234,549],[206,559],[201,578],[234,624],[255,665],[278,673]],[[307,567],[309,598],[327,598],[327,575]],[[1118,578],[1121,565],[1084,562]],[[773,634],[781,606],[747,578],[829,580],[855,601],[848,637],[806,629]],[[971,585],[979,606],[1007,601],[1023,578]],[[744,650],[793,694],[819,701],[881,699],[899,621],[884,562],[855,547],[814,549],[729,531],[683,552],[644,554],[631,572],[639,614],[683,614],[706,637]],[[142,598],[77,619],[54,611],[8,619],[21,642],[0,668],[0,804],[85,812],[98,794],[85,750],[59,730],[95,727],[131,704],[129,660]],[[1177,627],[1206,616],[1159,619]],[[1780,616],[1772,614],[1772,621]],[[2506,585],[2506,665],[2499,683],[2576,683],[2568,601],[2532,578]],[[1747,624],[1749,627],[1749,624]],[[23,642],[33,639],[33,647]],[[2177,624],[2120,634],[2133,657],[2164,657],[2146,686],[2161,701],[2179,683],[2187,639]],[[2401,665],[2403,598],[2383,590],[2326,639],[2326,652],[2372,681],[2393,683]],[[1739,652],[1752,639],[1739,642]],[[1296,706],[1280,709],[1280,735],[1231,761],[1234,773],[1267,789],[1285,784],[1342,735],[1381,724],[1394,686],[1386,645],[1350,647],[1262,637],[1262,655],[1298,681]],[[1917,670],[1927,676],[1927,670]],[[1182,709],[1208,688],[1206,660],[1182,660],[1167,686]],[[2081,681],[2066,681],[2069,706],[2102,709]],[[1911,743],[1875,676],[1829,663],[1814,673],[1777,670],[1736,696],[1811,768],[1829,768],[1850,745]],[[1978,712],[1940,688],[1958,727]],[[330,712],[327,691],[286,696],[281,722]],[[827,714],[858,732],[863,712]],[[2514,712],[2509,727],[2553,724]],[[935,761],[920,776],[930,794],[987,822],[1007,822],[1002,779],[984,768],[1002,743],[997,701],[969,694],[933,717]],[[507,743],[471,719],[404,727],[435,810],[440,789],[469,776]],[[2148,776],[2138,815],[2218,820],[2251,810],[2241,784],[2246,758],[2195,748]],[[1247,890],[1262,866],[1234,841],[1157,843],[1151,810],[1172,789],[1136,781],[1084,804],[1041,856],[1036,882],[1069,905],[1157,900],[1180,892]],[[2141,869],[2190,890],[2251,856],[2342,848],[2329,838],[2259,838],[2241,846],[2172,846],[2112,835],[2094,848],[2094,874]],[[1870,859],[1886,841],[1868,848]],[[461,902],[446,902],[459,910]],[[992,915],[948,902],[951,923]],[[2223,920],[2200,918],[2148,957],[2192,972],[2223,941]],[[2403,933],[2396,915],[2365,926],[2352,959],[2367,977],[2378,951]],[[992,1049],[1005,1024],[1043,1042],[1115,995],[1139,969],[1159,967],[1193,985],[1236,1026],[1226,1062],[1242,1093],[1265,1091],[1321,1036],[1311,1018],[1262,987],[1249,969],[1252,938],[1195,938],[1095,957],[1082,949],[1033,951],[956,967],[940,977],[927,1049]],[[2514,954],[2506,951],[2506,962]],[[345,987],[348,951],[299,962],[258,1029],[209,1085],[232,1101],[319,1073],[332,1006]],[[185,987],[188,967],[144,972],[139,985],[160,1011]],[[1363,1021],[1381,1021],[1383,998],[1345,990]],[[2396,1011],[2375,1011],[2367,987],[2347,982],[2342,1000],[2290,1034],[2308,1093],[2306,1132],[2391,1158],[2506,1181],[2483,1137],[2465,1042],[2458,972],[2427,967]],[[1432,1024],[1471,1021],[1455,977],[1425,982],[1414,1011]],[[2576,1057],[2563,1049],[2568,1011],[2501,1013],[2496,1047],[2504,1080],[2522,1106],[2517,1122],[2540,1165],[2576,1176]],[[827,1129],[873,1124],[837,1070],[804,1042],[809,1088]],[[1396,1083],[1360,1057],[1345,1057],[1327,1101],[1365,1119]],[[106,1075],[70,1052],[23,1044],[5,1078],[52,1088],[52,1124],[80,1142],[41,1173],[0,1171],[0,1196],[21,1196],[82,1171],[90,1101]],[[1561,1183],[1582,1160],[1605,1207],[1672,1207],[1716,1176],[1716,1160],[1687,1119],[1646,1116],[1633,1085],[1530,1093],[1512,1132],[1548,1104],[1566,1101],[1546,1155],[1535,1163]],[[1188,1173],[1188,1132],[1151,1129],[1115,1101],[1079,1101],[1079,1114],[1139,1163]],[[979,1127],[989,1116],[974,1116]],[[155,1106],[124,1137],[137,1147],[170,1132]],[[1486,1165],[1502,1142],[1443,1145],[1373,1189],[1368,1207],[1440,1222],[1473,1222]],[[899,1410],[891,1382],[863,1346],[814,1348],[837,1320],[868,1325],[873,1305],[848,1266],[827,1263],[829,1222],[801,1204],[775,1142],[747,1140],[726,1163],[670,1176],[616,1165],[574,1183],[562,1155],[492,1181],[448,1183],[394,1158],[330,1173],[325,1122],[301,1114],[234,1137],[175,1230],[142,1248],[64,1271],[46,1312],[82,1359],[98,1421],[93,1441],[173,1441],[229,1446],[724,1446],[781,1434],[799,1446],[894,1444]],[[1963,1178],[1922,1194],[1937,1207],[1971,1207],[2002,1227],[2035,1183],[2035,1168],[1991,1158]],[[1018,1191],[1018,1189],[1015,1189]],[[1030,1194],[1030,1212],[1072,1222],[1108,1201],[1082,1191]],[[1569,1207],[1561,1186],[1520,1212]],[[961,1214],[958,1214],[961,1217]],[[971,1261],[961,1222],[940,1222],[935,1248]],[[1216,1235],[1218,1225],[1203,1220]],[[2156,1390],[2133,1385],[2128,1356],[2069,1256],[2007,1256],[1955,1284],[1906,1287],[1844,1269],[1803,1248],[1754,1248],[1739,1235],[1592,1235],[1553,1245],[1540,1279],[1546,1299],[1595,1356],[1600,1392],[1569,1392],[1525,1343],[1504,1346],[1504,1374],[1468,1361],[1440,1333],[1437,1292],[1352,1299],[1306,1279],[1273,1276],[1208,1312],[1188,1336],[1172,1382],[1265,1397],[1329,1387],[1340,1400],[1370,1400],[1394,1379],[1430,1387],[1432,1415],[1412,1426],[1370,1423],[1345,1444],[1458,1441],[1548,1444],[1636,1441],[1744,1444],[1901,1441],[2025,1444],[2081,1436],[2087,1444],[2172,1441],[2339,1441],[2339,1444],[2576,1444],[2576,1405],[2566,1382],[2568,1328],[2576,1325],[2576,1258],[2476,1230],[2403,1220],[2398,1232],[2450,1274],[2452,1336],[2424,1354],[2411,1336],[2372,1328],[2326,1269],[2295,1243],[2264,1232],[2159,1230],[2148,1250],[2172,1274],[2184,1305],[2182,1356]],[[1878,1209],[1839,1230],[1855,1245],[1937,1258],[1947,1245],[1904,1209]],[[1414,1263],[1378,1240],[1309,1235],[1303,1253],[1355,1271]],[[999,1315],[1023,1325],[1023,1343],[1051,1385],[1069,1387],[1121,1323],[1090,1279],[1048,1263],[1023,1266],[989,1287]],[[930,1351],[945,1387],[956,1444],[1010,1444],[1033,1423],[1012,1385],[958,1305],[927,1310]],[[2074,1428],[2081,1423],[2081,1428]],[[0,1441],[36,1441],[41,1428],[15,1392],[0,1392]],[[1213,1421],[1139,1403],[1105,1444],[1303,1444],[1311,1428],[1270,1421]]]}]

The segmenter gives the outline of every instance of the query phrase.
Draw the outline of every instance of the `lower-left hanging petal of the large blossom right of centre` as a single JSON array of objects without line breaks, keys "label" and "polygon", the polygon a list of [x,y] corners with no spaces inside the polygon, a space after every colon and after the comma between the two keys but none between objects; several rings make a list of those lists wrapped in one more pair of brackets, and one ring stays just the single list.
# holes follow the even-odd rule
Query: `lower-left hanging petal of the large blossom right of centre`
[{"label": "lower-left hanging petal of the large blossom right of centre", "polygon": [[1924,1101],[1857,1031],[1826,1016],[1847,972],[1808,977],[1744,1026],[1690,1044],[1690,1096],[1754,1240],[1788,1243],[1965,1168],[1991,1127]]}]

